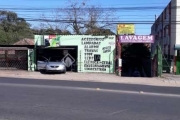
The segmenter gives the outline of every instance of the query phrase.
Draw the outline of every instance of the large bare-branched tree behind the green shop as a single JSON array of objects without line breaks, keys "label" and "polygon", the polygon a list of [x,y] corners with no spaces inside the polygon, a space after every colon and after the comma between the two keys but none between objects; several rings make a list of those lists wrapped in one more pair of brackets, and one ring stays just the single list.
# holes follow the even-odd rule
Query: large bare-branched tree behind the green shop
[{"label": "large bare-branched tree behind the green shop", "polygon": [[111,22],[116,20],[115,13],[113,9],[107,10],[100,6],[88,5],[87,0],[69,0],[65,8],[55,10],[54,17],[48,18],[45,17],[48,15],[43,15],[43,19],[50,28],[68,30],[79,35],[96,34],[96,32],[101,33],[101,30],[107,32],[112,28]]}]

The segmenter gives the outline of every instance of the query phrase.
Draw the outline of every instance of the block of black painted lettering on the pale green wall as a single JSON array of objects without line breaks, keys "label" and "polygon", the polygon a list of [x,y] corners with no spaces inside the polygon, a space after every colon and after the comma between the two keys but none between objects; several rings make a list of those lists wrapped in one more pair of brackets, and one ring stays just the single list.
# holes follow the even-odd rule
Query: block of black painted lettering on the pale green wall
[{"label": "block of black painted lettering on the pale green wall", "polygon": [[[113,38],[114,40],[112,40]],[[85,71],[106,72],[113,66],[113,62],[109,60],[108,56],[113,51],[113,47],[111,45],[115,45],[115,37],[107,39],[110,40],[108,43],[106,43],[107,40],[105,40],[105,38],[81,39],[81,44],[84,46],[83,62]]]}]

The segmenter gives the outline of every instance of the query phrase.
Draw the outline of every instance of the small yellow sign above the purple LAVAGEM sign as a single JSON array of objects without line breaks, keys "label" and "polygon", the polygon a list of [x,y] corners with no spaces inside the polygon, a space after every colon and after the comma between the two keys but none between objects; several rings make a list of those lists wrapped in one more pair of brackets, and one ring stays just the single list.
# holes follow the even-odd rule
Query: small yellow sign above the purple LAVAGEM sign
[{"label": "small yellow sign above the purple LAVAGEM sign", "polygon": [[135,34],[134,24],[118,24],[117,25],[117,34]]}]

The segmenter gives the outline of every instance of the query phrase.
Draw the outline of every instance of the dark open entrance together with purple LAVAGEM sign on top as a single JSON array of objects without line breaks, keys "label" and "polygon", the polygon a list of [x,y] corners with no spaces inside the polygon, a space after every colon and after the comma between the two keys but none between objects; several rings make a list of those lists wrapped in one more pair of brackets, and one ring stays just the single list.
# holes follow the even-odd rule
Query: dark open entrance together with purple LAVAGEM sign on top
[{"label": "dark open entrance together with purple LAVAGEM sign on top", "polygon": [[119,69],[121,76],[152,77],[151,43],[152,35],[119,35],[120,51]]}]

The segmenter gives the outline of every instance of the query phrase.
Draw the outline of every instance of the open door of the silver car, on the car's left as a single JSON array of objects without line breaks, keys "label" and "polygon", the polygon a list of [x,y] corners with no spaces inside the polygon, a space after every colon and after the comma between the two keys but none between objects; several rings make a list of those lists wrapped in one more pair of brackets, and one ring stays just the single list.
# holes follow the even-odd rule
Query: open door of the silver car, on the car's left
[{"label": "open door of the silver car, on the car's left", "polygon": [[46,67],[47,62],[48,62],[47,58],[45,58],[43,56],[39,57],[38,61],[37,61],[37,69],[38,70],[44,70],[45,67]]}]

